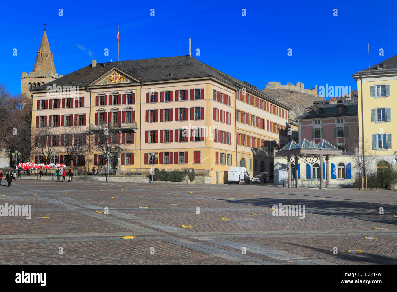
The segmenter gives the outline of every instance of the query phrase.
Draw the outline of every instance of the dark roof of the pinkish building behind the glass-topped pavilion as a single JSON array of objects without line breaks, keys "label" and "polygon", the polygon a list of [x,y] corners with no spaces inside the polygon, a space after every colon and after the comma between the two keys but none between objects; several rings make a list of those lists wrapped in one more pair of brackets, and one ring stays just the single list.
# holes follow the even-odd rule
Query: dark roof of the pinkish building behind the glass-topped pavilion
[{"label": "dark roof of the pinkish building behind the glass-topped pavilion", "polygon": [[[344,113],[338,114],[337,107],[345,106],[346,111]],[[331,104],[318,104],[315,107],[319,107],[322,109],[320,114],[315,114],[314,110],[310,110],[310,112],[306,112],[299,117],[296,117],[295,120],[303,120],[303,119],[314,119],[314,118],[330,118],[330,117],[338,117],[338,116],[358,116],[358,103],[357,102],[345,102],[345,103],[331,103]]]}]

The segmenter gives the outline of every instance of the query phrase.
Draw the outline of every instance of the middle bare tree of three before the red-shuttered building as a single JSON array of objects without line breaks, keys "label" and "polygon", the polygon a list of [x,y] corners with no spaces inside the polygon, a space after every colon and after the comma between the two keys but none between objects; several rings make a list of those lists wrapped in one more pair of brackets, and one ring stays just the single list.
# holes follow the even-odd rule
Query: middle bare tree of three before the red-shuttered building
[{"label": "middle bare tree of three before the red-shuttered building", "polygon": [[72,161],[75,161],[79,155],[85,155],[89,150],[85,127],[64,127],[61,133],[61,139],[63,139],[61,146],[63,144],[65,152],[69,157],[69,166],[72,166]]}]

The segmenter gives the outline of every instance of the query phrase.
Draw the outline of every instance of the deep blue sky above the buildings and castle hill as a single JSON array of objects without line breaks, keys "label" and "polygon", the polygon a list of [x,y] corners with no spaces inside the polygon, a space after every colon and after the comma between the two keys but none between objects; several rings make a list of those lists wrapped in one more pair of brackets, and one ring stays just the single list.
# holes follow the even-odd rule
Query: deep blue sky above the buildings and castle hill
[{"label": "deep blue sky above the buildings and castle hill", "polygon": [[[338,16],[333,16],[335,8]],[[306,88],[328,83],[355,90],[351,75],[368,68],[368,43],[371,66],[397,54],[396,8],[395,1],[387,0],[8,1],[0,11],[5,28],[0,82],[13,95],[20,93],[21,72],[33,70],[45,21],[55,68],[62,75],[91,59],[117,60],[120,25],[121,60],[187,55],[192,38],[192,56],[258,89],[268,81],[301,81]]]}]

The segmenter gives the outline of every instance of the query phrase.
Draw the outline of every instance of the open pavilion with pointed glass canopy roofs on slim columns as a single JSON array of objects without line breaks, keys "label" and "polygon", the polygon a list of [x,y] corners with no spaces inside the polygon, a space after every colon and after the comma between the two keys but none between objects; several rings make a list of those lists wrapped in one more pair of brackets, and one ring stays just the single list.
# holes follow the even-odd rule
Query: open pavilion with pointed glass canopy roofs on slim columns
[{"label": "open pavilion with pointed glass canopy roofs on slim columns", "polygon": [[[323,164],[325,155],[326,161],[326,180],[330,182],[330,174],[328,170],[329,164],[329,156],[330,155],[342,155],[342,151],[333,146],[330,142],[322,139],[319,143],[314,143],[312,141],[308,141],[303,139],[299,143],[295,141],[289,142],[283,148],[281,148],[278,152],[276,152],[276,156],[281,156],[287,159],[288,161],[288,188],[291,188],[291,156],[295,157],[295,165],[298,165],[298,160],[307,161],[310,163],[314,163],[315,161],[319,161],[320,165]],[[320,167],[320,189],[324,190],[324,180],[323,180],[323,168]],[[299,178],[298,178],[298,168],[295,167],[295,186],[298,187]]]}]

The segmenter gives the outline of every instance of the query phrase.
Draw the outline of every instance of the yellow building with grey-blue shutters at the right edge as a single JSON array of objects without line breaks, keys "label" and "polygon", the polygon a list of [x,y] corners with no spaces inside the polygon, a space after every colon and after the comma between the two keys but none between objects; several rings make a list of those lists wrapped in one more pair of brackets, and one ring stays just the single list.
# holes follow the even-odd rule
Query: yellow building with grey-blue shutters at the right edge
[{"label": "yellow building with grey-blue shutters at the right edge", "polygon": [[397,55],[353,74],[353,78],[357,81],[360,152],[376,157],[365,167],[365,174],[370,174],[376,172],[380,161],[390,163],[397,150],[391,112],[397,109]]}]

